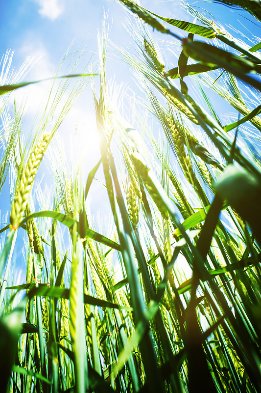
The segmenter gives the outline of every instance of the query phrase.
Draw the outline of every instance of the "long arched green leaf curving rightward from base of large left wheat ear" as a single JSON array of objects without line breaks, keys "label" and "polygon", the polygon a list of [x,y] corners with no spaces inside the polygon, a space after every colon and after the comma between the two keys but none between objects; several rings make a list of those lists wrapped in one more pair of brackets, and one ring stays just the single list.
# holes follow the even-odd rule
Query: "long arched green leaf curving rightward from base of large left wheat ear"
[{"label": "long arched green leaf curving rightward from base of large left wheat ear", "polygon": [[[69,228],[71,228],[72,225],[74,224],[74,220],[71,218],[71,216],[67,216],[66,214],[59,213],[59,212],[54,212],[52,210],[46,210],[46,211],[30,214],[29,216],[26,217],[26,219],[24,219],[22,224],[24,224],[30,218],[34,218],[34,217],[50,217],[60,221],[60,223],[68,226]],[[95,232],[94,230],[90,228],[86,228],[85,233],[87,237],[90,237],[91,239],[94,239],[99,243],[105,244],[108,247],[120,251],[120,245],[118,243],[115,243],[113,240],[108,239],[107,237]]]}]

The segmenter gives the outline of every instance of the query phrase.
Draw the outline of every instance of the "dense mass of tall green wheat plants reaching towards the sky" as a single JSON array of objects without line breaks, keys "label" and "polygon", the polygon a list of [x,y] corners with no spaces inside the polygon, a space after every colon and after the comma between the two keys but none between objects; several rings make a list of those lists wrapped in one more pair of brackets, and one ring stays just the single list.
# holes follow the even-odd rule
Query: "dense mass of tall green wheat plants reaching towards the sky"
[{"label": "dense mass of tall green wheat plants reaching towards the sky", "polygon": [[[119,2],[139,17],[129,22],[136,55],[117,50],[135,70],[143,99],[127,104],[127,119],[108,93],[104,23],[99,91],[93,84],[100,157],[90,173],[78,168],[68,175],[59,157],[53,209],[35,209],[35,177],[49,142],[76,96],[98,78],[93,73],[78,75],[49,134],[57,100],[30,146],[22,147],[17,111],[2,136],[0,190],[10,167],[16,187],[10,225],[0,230],[1,239],[7,232],[0,255],[1,391],[261,392],[261,44],[237,41],[189,6],[198,22]],[[257,2],[233,4],[259,19]],[[178,51],[174,67],[148,26]],[[24,85],[4,82],[0,94]],[[57,97],[65,85],[59,88]],[[213,92],[224,99],[225,117]],[[231,106],[238,115],[228,121]],[[110,206],[98,230],[89,211],[96,180]],[[13,282],[21,232],[28,238],[26,272],[24,282]]]}]

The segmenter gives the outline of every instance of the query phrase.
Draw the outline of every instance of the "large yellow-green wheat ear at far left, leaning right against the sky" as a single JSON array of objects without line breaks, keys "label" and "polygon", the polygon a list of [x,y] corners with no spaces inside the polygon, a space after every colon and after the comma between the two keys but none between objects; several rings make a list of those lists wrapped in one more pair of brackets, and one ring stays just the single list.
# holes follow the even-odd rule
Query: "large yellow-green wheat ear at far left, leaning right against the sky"
[{"label": "large yellow-green wheat ear at far left, leaning right against the sky", "polygon": [[17,229],[24,217],[24,211],[32,190],[34,178],[44,157],[50,138],[48,134],[44,134],[41,137],[33,149],[26,167],[22,171],[10,214],[10,227],[12,229]]}]

